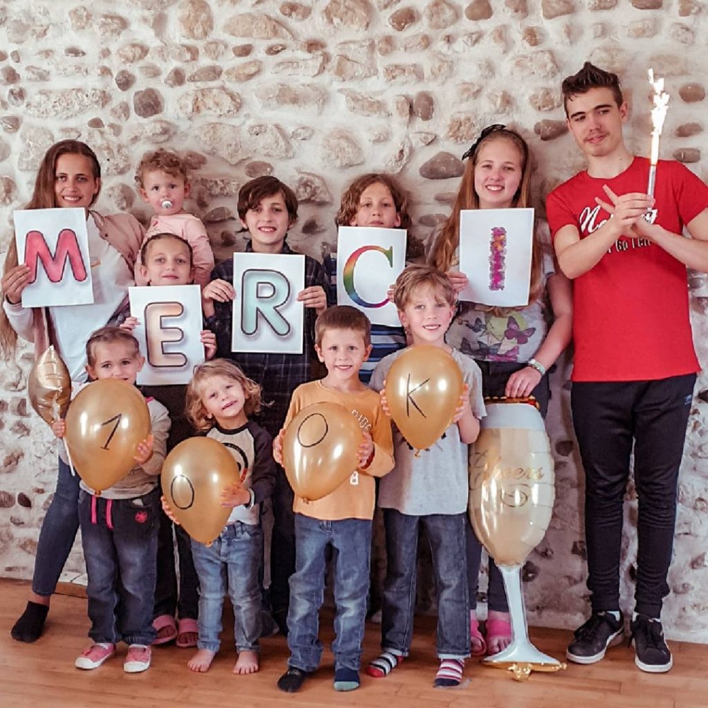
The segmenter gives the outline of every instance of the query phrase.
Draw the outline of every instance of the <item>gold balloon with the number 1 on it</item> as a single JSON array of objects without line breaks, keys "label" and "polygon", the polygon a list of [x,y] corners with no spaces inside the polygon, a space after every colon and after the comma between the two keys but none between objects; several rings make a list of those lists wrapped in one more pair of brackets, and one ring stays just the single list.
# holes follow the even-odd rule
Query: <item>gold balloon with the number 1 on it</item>
[{"label": "gold balloon with the number 1 on it", "polygon": [[135,467],[137,445],[152,428],[142,394],[118,379],[99,379],[81,389],[66,421],[65,440],[74,468],[96,492]]}]

